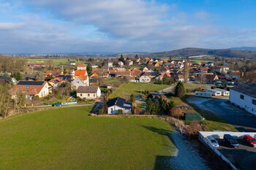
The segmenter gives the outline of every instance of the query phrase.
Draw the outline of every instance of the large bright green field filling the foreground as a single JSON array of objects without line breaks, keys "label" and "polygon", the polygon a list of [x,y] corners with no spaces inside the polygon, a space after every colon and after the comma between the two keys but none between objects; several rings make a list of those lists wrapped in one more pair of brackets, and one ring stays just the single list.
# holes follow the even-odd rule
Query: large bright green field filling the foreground
[{"label": "large bright green field filling the foreground", "polygon": [[89,117],[90,110],[48,109],[0,120],[0,169],[170,169],[159,159],[176,151],[168,123]]}]

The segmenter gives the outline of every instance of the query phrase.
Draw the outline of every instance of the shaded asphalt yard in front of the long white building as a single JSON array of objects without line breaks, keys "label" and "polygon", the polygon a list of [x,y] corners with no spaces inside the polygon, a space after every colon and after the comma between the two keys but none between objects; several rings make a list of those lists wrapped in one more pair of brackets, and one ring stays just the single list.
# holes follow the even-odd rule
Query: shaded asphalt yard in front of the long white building
[{"label": "shaded asphalt yard in front of the long white building", "polygon": [[224,98],[193,98],[189,103],[196,104],[202,109],[206,109],[219,117],[222,117],[227,123],[232,124],[238,131],[256,132],[256,116],[250,115],[242,109],[234,107],[227,103]]}]

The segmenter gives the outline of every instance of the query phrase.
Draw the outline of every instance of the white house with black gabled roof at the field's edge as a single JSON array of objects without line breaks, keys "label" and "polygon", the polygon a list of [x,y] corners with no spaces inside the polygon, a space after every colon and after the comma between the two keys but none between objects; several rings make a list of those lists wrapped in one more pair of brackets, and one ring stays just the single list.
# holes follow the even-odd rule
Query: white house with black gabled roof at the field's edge
[{"label": "white house with black gabled roof at the field's edge", "polygon": [[113,98],[108,101],[108,114],[118,114],[118,109],[121,109],[123,114],[131,112],[132,104],[127,103],[124,98]]}]

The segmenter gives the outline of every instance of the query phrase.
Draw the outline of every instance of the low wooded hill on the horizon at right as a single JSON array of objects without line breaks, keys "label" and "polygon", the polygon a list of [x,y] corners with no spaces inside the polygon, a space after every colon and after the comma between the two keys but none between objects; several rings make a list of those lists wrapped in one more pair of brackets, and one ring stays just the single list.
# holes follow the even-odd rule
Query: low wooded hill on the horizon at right
[{"label": "low wooded hill on the horizon at right", "polygon": [[147,56],[154,58],[168,58],[170,55],[176,57],[189,57],[197,55],[214,55],[227,58],[256,58],[256,51],[232,50],[232,49],[205,49],[205,48],[182,48],[158,53],[148,53]]}]

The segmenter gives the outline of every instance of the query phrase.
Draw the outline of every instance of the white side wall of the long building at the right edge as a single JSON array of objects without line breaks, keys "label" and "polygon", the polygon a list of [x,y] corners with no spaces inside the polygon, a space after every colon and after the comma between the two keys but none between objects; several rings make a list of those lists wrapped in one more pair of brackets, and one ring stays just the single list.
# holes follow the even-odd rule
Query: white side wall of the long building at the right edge
[{"label": "white side wall of the long building at the right edge", "polygon": [[245,109],[247,112],[256,115],[256,98],[248,96],[244,93],[230,89],[230,103]]}]

